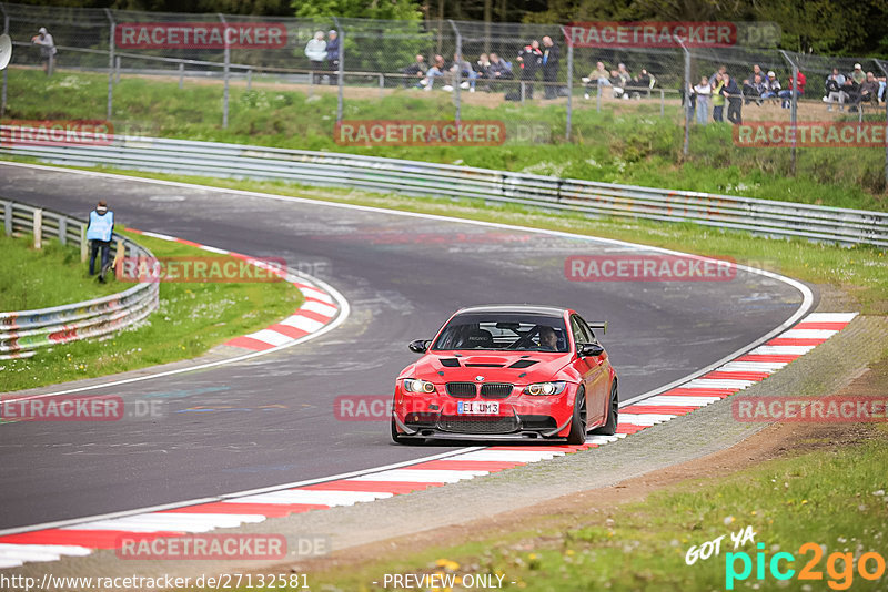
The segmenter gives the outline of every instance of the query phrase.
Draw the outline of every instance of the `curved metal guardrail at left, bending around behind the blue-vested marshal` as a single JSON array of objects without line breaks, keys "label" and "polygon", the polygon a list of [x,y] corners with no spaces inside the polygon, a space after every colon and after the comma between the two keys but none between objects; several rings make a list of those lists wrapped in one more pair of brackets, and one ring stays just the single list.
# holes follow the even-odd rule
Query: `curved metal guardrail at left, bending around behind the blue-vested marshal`
[{"label": "curved metal guardrail at left, bending around behind the blue-vested marshal", "polygon": [[[83,246],[87,223],[58,212],[0,198],[0,220],[7,235],[32,233],[34,213],[40,211],[41,237]],[[153,257],[147,248],[119,234],[112,237],[130,257]],[[82,303],[0,313],[0,359],[28,357],[41,347],[99,337],[138,323],[158,308],[158,283],[135,286],[103,298]]]}]

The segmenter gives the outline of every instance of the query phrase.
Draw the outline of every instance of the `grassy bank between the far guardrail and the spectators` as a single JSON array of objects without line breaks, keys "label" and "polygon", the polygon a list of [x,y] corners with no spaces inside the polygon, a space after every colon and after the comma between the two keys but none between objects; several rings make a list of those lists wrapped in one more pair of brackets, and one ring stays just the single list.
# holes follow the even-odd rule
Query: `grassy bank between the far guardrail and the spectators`
[{"label": "grassy bank between the far guardrail and the spectators", "polygon": [[[785,200],[840,207],[888,210],[885,151],[880,149],[800,149],[793,175],[789,149],[740,149],[731,126],[692,129],[689,154],[682,153],[680,108],[672,101],[665,116],[659,101],[623,101],[598,113],[594,102],[576,101],[573,135],[565,142],[566,110],[561,104],[492,102],[493,95],[466,95],[464,120],[497,120],[507,126],[533,123],[551,130],[544,143],[507,142],[502,146],[346,146],[334,142],[336,96],[302,92],[292,84],[255,83],[231,88],[229,129],[221,127],[221,81],[124,78],[114,88],[112,121],[118,133],[329,150],[507,171],[637,184],[675,190]],[[349,89],[350,92],[364,89]],[[97,119],[104,116],[108,79],[103,74],[11,69],[10,119]],[[31,98],[40,96],[40,101]],[[498,96],[498,95],[497,95]],[[618,103],[618,104],[617,104]],[[823,104],[803,105],[809,119],[823,120]],[[786,110],[749,116],[787,121]],[[771,108],[768,108],[771,109]],[[808,113],[807,111],[810,111]],[[444,92],[398,90],[346,96],[344,119],[453,119],[452,96]],[[874,115],[875,116],[875,115]],[[879,115],[881,118],[881,115]],[[881,121],[881,119],[879,119]]]}]

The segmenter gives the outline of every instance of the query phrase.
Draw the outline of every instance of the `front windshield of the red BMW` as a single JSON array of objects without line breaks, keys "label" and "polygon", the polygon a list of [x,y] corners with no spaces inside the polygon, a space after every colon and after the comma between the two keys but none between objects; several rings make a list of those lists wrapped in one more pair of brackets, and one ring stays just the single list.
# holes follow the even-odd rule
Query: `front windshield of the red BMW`
[{"label": "front windshield of the red BMW", "polygon": [[569,350],[563,318],[514,313],[457,315],[441,331],[432,349]]}]

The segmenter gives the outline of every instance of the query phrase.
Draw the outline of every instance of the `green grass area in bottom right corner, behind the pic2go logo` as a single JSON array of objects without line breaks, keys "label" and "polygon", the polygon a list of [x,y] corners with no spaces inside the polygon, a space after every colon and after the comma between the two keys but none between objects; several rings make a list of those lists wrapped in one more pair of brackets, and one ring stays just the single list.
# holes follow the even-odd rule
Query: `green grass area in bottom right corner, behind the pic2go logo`
[{"label": "green grass area in bottom right corner, behind the pic2go logo", "polygon": [[[458,585],[465,574],[502,575],[504,589],[552,592],[884,590],[886,575],[868,581],[858,562],[867,552],[885,557],[888,479],[881,468],[888,462],[888,430],[867,429],[856,445],[838,449],[823,440],[800,443],[816,451],[728,477],[685,481],[642,502],[604,510],[593,504],[576,508],[569,517],[532,517],[514,527],[504,524],[507,532],[495,537],[475,532],[468,543],[314,573],[311,584],[329,591],[384,590],[385,574],[438,573],[455,576],[453,590],[472,589]],[[754,539],[738,540],[735,549],[730,534],[747,527]],[[687,564],[693,548],[719,537],[718,555]],[[803,547],[808,542],[813,549]],[[795,572],[785,581],[770,571],[778,552],[794,558],[784,555],[778,563],[781,572]],[[744,571],[744,560],[728,553],[748,553],[751,569],[745,579],[728,578],[729,568],[736,574]],[[818,553],[823,555],[815,562]],[[852,564],[846,567],[834,553]],[[801,578],[809,562],[821,580]],[[866,569],[876,572],[877,561],[870,558]]]}]

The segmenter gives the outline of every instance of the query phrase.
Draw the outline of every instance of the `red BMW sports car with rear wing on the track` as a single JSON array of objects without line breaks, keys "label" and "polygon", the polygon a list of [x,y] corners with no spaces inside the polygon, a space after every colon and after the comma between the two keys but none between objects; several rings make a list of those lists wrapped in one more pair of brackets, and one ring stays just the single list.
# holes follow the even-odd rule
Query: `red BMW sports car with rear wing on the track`
[{"label": "red BMW sports car with rear wing on the track", "polygon": [[397,377],[392,439],[583,443],[617,427],[617,376],[569,308],[493,305],[455,313]]}]

